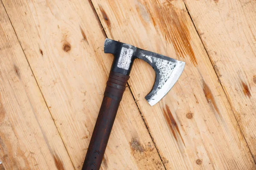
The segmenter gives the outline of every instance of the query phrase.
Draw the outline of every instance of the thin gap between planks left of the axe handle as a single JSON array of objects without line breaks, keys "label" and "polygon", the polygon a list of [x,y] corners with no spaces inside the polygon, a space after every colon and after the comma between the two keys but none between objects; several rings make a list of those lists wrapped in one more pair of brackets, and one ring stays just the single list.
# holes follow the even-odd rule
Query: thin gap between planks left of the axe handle
[{"label": "thin gap between planks left of the axe handle", "polygon": [[[8,14],[8,12],[6,11],[6,7],[4,6],[3,1],[0,0],[0,3],[3,4],[3,7],[4,7],[4,9],[5,9],[5,12],[6,12],[6,14],[7,14],[7,16],[8,16],[8,19],[9,19],[11,25],[12,25],[12,21],[10,20],[9,14]],[[19,40],[19,38],[18,38],[18,36],[17,36],[17,33],[16,33],[15,28],[13,27],[13,25],[12,25],[12,28],[13,28],[13,31],[15,32],[15,36],[17,37],[17,40],[18,40],[18,42],[19,42],[19,44],[20,44],[20,48],[22,49],[22,52],[23,52],[24,56],[26,57],[26,54],[25,54],[25,52],[24,52],[24,50],[23,50],[23,47],[22,47],[22,45],[21,45],[21,43],[20,43],[20,40]],[[30,68],[30,70],[31,70],[31,72],[32,72],[32,74],[33,74],[33,77],[35,78],[35,74],[34,74],[32,68],[31,68],[31,66],[30,66],[30,63],[29,63],[29,60],[28,60],[27,57],[26,57],[26,61],[27,61],[28,64],[29,64],[29,68]],[[36,84],[38,85],[38,81],[37,81],[36,78],[35,78],[35,82],[36,82]],[[40,88],[39,85],[38,85],[38,88],[39,88],[40,93],[41,93],[42,96],[43,96],[44,103],[45,103],[45,105],[47,106],[47,109],[48,109],[48,111],[49,111],[49,113],[50,113],[50,115],[51,115],[51,117],[52,117],[52,113],[51,113],[51,111],[49,110],[49,106],[47,105],[47,102],[46,102],[46,100],[45,100],[45,98],[44,98],[44,94],[42,93],[41,88]],[[53,119],[53,117],[52,117],[52,120],[53,120],[53,122],[54,122],[55,127],[56,127],[57,130],[58,130],[58,127],[56,126],[56,123],[55,123],[55,120]],[[63,143],[63,145],[64,145],[64,147],[65,147],[65,149],[66,149],[66,151],[67,151],[67,147],[66,147],[66,145],[65,145],[64,142],[63,142],[63,139],[62,139],[62,136],[61,136],[61,133],[60,133],[59,130],[58,130],[58,134],[59,134],[59,136],[61,137],[61,141],[62,141],[62,143]],[[74,170],[75,170],[75,169],[76,169],[76,168],[75,168],[75,165],[74,165],[74,163],[73,163],[73,161],[72,161],[72,159],[71,159],[70,154],[68,153],[68,151],[67,151],[67,154],[68,154],[68,156],[69,156],[69,158],[70,158],[70,161],[72,162],[73,168],[74,168]]]}]

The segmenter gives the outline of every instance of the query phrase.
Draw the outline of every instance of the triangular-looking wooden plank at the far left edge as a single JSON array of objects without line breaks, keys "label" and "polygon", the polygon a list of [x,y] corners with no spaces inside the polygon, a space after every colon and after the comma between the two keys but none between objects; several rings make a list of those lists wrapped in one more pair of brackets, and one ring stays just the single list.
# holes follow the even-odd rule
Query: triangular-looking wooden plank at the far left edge
[{"label": "triangular-looking wooden plank at the far left edge", "polygon": [[0,169],[74,169],[0,1]]}]

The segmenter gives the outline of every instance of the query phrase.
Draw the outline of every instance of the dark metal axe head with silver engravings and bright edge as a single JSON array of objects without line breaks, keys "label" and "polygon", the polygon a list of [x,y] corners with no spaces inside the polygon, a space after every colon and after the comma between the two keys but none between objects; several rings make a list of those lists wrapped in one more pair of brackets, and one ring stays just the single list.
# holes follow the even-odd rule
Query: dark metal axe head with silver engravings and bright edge
[{"label": "dark metal axe head with silver engravings and bright edge", "polygon": [[115,56],[111,71],[120,74],[129,75],[136,58],[143,59],[154,68],[155,82],[152,90],[145,96],[151,106],[159,102],[171,90],[185,67],[185,62],[108,38],[105,40],[104,52]]}]

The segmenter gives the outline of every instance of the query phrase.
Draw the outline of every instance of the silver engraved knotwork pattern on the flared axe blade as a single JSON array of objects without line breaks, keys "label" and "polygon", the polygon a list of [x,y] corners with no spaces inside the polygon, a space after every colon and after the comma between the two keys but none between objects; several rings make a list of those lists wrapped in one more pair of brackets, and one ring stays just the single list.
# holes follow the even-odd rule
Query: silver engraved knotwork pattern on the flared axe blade
[{"label": "silver engraved knotwork pattern on the flared axe blade", "polygon": [[[169,77],[172,74],[173,69],[176,67],[175,62],[170,62],[164,59],[159,59],[156,57],[152,56],[147,56],[145,55],[145,58],[149,60],[149,62],[154,63],[157,66],[157,70],[159,70],[160,74],[160,80],[159,80],[159,85],[157,86],[157,90],[155,92],[155,95],[157,95],[157,91],[163,87],[163,85],[166,83],[166,81],[169,79]],[[153,97],[151,96],[151,97]]]}]

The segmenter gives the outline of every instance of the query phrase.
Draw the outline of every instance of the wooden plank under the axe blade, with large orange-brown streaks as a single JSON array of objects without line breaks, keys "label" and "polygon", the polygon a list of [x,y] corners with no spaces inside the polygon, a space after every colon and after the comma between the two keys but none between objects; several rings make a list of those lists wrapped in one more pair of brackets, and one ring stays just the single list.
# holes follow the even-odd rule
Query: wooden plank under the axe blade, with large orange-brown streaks
[{"label": "wooden plank under the axe blade, with large orange-brown streaks", "polygon": [[144,96],[154,71],[134,63],[129,85],[167,169],[256,168],[218,77],[182,0],[92,0],[109,38],[186,62],[155,106]]}]

